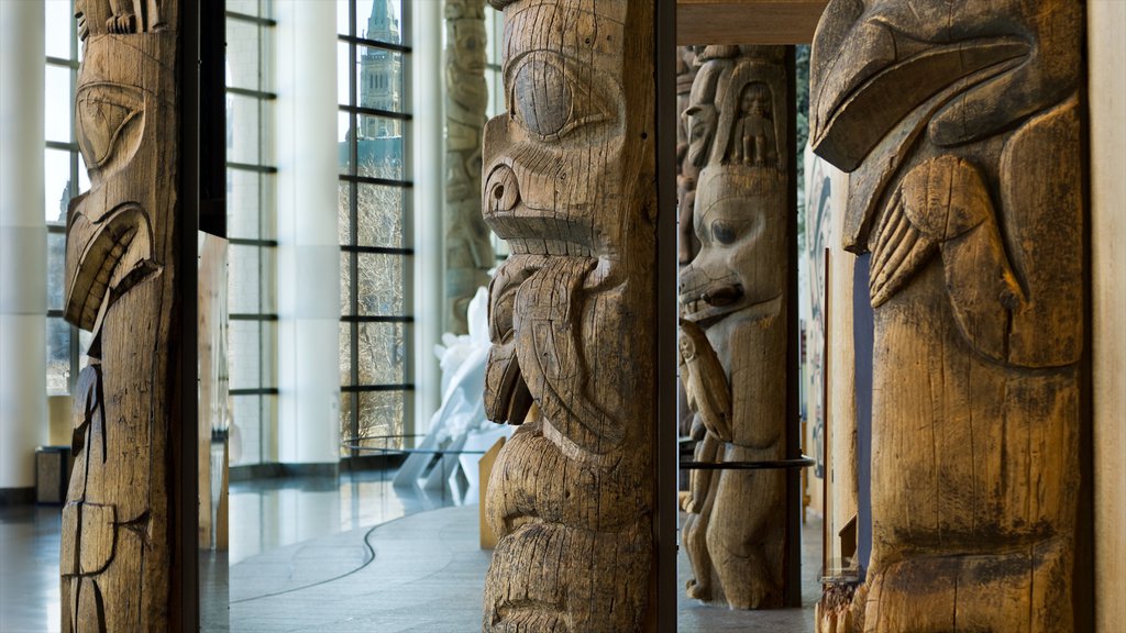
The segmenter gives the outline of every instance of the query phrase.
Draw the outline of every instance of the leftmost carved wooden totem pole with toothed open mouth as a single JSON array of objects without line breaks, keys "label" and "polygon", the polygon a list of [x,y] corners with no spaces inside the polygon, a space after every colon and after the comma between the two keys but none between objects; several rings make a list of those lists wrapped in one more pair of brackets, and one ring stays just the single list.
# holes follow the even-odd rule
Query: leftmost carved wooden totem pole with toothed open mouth
[{"label": "leftmost carved wooden totem pole with toothed open mouth", "polygon": [[177,9],[160,0],[75,7],[86,47],[75,137],[91,189],[68,221],[65,316],[93,341],[78,378],[63,508],[64,631],[176,628]]}]

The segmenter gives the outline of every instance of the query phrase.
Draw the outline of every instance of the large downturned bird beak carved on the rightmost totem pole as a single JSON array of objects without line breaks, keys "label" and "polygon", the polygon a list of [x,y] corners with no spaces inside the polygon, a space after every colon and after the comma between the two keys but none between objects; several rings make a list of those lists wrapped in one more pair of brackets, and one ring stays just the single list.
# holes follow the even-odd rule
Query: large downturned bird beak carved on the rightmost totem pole
[{"label": "large downturned bird beak carved on the rightmost totem pole", "polygon": [[[811,139],[814,151],[852,171],[909,114],[959,86],[965,91],[1020,64],[1029,53],[1017,37],[981,37],[945,44],[920,42],[874,19],[857,23],[833,59],[814,69]],[[819,32],[814,46],[822,43]],[[953,98],[954,95],[950,96]],[[926,122],[922,122],[926,123]]]}]

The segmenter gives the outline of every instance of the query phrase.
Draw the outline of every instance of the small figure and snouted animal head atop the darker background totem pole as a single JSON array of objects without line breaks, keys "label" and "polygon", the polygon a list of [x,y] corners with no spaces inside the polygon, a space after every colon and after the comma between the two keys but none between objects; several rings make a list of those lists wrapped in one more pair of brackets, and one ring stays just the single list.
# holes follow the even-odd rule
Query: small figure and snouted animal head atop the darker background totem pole
[{"label": "small figure and snouted animal head atop the darker background totem pole", "polygon": [[686,113],[689,153],[707,160],[694,214],[701,248],[680,274],[680,300],[685,319],[705,329],[730,316],[777,314],[786,291],[788,178],[778,161],[786,104],[771,88],[785,87],[780,62],[705,61]]}]

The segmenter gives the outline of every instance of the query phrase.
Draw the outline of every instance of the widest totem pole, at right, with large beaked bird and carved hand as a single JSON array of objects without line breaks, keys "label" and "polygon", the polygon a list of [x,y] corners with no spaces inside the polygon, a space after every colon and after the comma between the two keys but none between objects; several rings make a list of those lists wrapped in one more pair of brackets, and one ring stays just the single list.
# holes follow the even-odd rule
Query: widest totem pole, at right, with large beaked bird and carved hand
[{"label": "widest totem pole, at right, with large beaked bird and carved hand", "polygon": [[814,146],[870,252],[863,630],[1070,632],[1083,428],[1079,0],[834,0]]}]

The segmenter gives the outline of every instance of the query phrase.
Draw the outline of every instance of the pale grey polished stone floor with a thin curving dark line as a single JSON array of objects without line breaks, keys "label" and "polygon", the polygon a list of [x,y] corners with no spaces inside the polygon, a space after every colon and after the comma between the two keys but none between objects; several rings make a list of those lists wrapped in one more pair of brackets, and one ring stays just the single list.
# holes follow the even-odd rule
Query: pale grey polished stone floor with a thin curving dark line
[{"label": "pale grey polished stone floor with a thin curving dark line", "polygon": [[[477,508],[452,506],[377,471],[232,484],[230,552],[200,561],[204,630],[477,631],[489,554]],[[57,507],[0,508],[0,632],[59,630],[59,531]],[[681,596],[678,631],[813,631],[820,523],[804,537],[802,609],[732,612]],[[683,586],[683,552],[679,568]],[[226,595],[230,626],[214,598]]]}]

